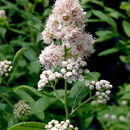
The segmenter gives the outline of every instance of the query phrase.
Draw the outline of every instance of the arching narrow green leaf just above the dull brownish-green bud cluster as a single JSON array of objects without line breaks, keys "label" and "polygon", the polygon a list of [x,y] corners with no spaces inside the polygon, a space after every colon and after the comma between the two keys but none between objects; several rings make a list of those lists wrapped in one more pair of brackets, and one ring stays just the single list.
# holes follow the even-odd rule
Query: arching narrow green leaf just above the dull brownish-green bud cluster
[{"label": "arching narrow green leaf just above the dull brownish-green bud cluster", "polygon": [[21,86],[16,88],[16,90],[19,90],[19,89],[20,90],[25,90],[25,91],[30,92],[30,93],[32,93],[34,95],[39,96],[39,97],[44,97],[44,95],[41,92],[39,92],[37,89],[35,89],[35,88],[31,87],[31,86],[21,85]]}]

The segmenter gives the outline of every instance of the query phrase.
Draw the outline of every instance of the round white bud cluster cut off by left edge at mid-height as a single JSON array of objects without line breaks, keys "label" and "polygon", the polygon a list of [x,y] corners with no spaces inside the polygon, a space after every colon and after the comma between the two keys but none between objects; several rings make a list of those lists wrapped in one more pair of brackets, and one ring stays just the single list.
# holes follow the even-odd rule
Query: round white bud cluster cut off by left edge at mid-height
[{"label": "round white bud cluster cut off by left edge at mid-height", "polygon": [[11,61],[5,60],[0,62],[0,75],[8,76],[8,73],[12,70]]}]

